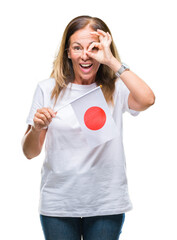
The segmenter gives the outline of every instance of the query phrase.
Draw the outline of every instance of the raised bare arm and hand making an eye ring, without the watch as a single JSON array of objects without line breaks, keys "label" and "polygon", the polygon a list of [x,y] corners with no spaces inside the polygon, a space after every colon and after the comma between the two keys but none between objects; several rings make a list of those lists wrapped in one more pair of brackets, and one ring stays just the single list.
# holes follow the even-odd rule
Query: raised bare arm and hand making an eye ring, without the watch
[{"label": "raised bare arm and hand making an eye ring, without the watch", "polygon": [[[117,72],[121,67],[121,63],[112,55],[110,44],[112,41],[111,35],[102,30],[91,32],[97,35],[100,42],[94,42],[88,49],[88,55],[95,58],[98,62],[107,65],[114,72]],[[92,48],[98,48],[96,53],[92,53]],[[128,105],[129,108],[136,111],[143,111],[150,107],[155,102],[155,95],[150,87],[132,71],[124,71],[121,74],[121,79],[130,90]]]}]

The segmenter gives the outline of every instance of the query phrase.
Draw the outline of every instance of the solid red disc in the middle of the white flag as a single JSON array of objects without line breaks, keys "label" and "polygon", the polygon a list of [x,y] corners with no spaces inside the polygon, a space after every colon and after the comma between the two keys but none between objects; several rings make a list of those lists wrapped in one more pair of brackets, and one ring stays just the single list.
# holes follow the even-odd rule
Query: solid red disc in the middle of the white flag
[{"label": "solid red disc in the middle of the white flag", "polygon": [[84,122],[90,130],[99,130],[106,122],[106,113],[100,107],[91,107],[84,114]]}]

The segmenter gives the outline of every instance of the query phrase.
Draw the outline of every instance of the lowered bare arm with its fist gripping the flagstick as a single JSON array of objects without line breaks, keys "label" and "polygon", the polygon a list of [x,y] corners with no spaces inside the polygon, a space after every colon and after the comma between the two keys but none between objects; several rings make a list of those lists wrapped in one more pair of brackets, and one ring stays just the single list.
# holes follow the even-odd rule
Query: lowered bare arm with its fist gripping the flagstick
[{"label": "lowered bare arm with its fist gripping the flagstick", "polygon": [[[28,129],[22,139],[22,149],[28,159],[38,156],[42,150],[47,127],[56,113],[50,108],[38,109],[34,116],[34,126],[28,125]],[[44,129],[45,128],[45,129]]]}]

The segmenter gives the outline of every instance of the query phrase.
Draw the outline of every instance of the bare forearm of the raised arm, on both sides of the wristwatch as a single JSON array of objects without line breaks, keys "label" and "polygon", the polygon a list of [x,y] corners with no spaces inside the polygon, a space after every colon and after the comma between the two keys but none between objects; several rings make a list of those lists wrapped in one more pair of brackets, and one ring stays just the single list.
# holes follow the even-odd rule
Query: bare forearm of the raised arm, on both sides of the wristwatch
[{"label": "bare forearm of the raised arm, on both sides of the wristwatch", "polygon": [[[109,63],[109,67],[114,72],[117,72],[121,67],[121,63],[116,58],[113,58]],[[154,103],[155,96],[153,91],[134,72],[124,71],[120,77],[138,104],[141,106],[150,106]]]}]

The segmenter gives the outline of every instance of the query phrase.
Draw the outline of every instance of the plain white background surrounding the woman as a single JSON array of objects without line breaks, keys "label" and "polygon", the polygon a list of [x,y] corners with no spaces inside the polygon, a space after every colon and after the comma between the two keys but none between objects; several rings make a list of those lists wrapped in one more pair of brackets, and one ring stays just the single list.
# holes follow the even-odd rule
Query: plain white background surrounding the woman
[{"label": "plain white background surrounding the woman", "polygon": [[176,240],[176,6],[168,0],[0,3],[0,238],[44,239],[38,216],[44,153],[21,150],[34,89],[49,77],[68,22],[88,14],[112,31],[121,59],[154,91],[156,103],[124,115],[124,145],[134,210],[121,240]]}]

